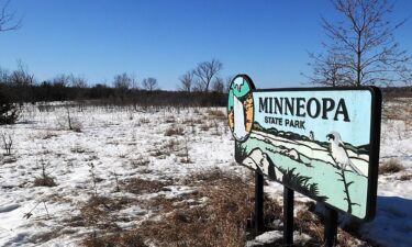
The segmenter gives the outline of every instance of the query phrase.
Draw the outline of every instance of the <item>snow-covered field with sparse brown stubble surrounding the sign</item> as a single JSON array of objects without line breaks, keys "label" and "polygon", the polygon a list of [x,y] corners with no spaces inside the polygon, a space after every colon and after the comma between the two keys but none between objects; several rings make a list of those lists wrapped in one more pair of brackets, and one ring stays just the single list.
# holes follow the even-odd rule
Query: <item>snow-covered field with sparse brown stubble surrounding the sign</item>
[{"label": "snow-covered field with sparse brown stubble surrounding the sign", "polygon": [[[401,168],[379,176],[376,218],[356,233],[372,246],[407,247],[412,246],[412,106],[407,100],[385,105],[380,166]],[[30,104],[18,124],[0,126],[0,135],[1,247],[82,246],[97,228],[81,218],[91,198],[133,202],[118,210],[102,204],[109,211],[104,216],[122,231],[145,227],[148,220],[162,224],[162,215],[144,202],[193,193],[196,188],[181,182],[193,172],[250,173],[234,164],[223,108]],[[155,181],[160,190],[140,187],[137,193],[126,186],[131,181]],[[265,191],[281,200],[278,183],[268,182]],[[297,194],[296,201],[308,199]],[[254,243],[276,237],[281,232]]]}]

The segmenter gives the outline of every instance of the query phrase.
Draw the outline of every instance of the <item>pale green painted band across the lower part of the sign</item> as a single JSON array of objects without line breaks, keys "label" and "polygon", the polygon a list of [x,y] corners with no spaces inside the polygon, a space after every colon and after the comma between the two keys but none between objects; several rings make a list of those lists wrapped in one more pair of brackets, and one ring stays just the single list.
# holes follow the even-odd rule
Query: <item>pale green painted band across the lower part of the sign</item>
[{"label": "pale green painted band across the lower part of the sign", "polygon": [[[316,160],[316,151],[314,151],[313,159],[311,159],[311,157],[307,158],[301,156],[303,162],[311,165],[308,167],[291,159],[287,155],[281,154],[281,148],[253,137],[249,137],[243,143],[242,147],[246,148],[246,154],[249,154],[255,148],[260,148],[270,157],[275,166],[285,170],[291,170],[294,168],[294,173],[310,177],[309,183],[318,184],[319,195],[327,197],[325,203],[345,212],[348,210],[348,203],[345,200],[347,197],[345,193],[345,183],[339,181],[342,179],[339,173],[342,175],[343,171],[329,162]],[[296,149],[299,150],[298,145]],[[346,183],[353,182],[348,187],[350,201],[352,203],[355,203],[352,206],[352,214],[359,218],[364,218],[366,214],[368,179],[352,171],[345,171],[344,173]]]}]

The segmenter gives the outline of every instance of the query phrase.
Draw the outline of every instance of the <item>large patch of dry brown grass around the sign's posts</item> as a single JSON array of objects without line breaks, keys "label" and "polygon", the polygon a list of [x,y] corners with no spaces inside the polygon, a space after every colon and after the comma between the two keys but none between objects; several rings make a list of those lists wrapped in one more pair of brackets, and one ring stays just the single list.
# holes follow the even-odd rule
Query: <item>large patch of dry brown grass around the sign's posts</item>
[{"label": "large patch of dry brown grass around the sign's posts", "polygon": [[[248,177],[240,177],[233,172],[212,169],[191,173],[179,182],[193,188],[193,192],[175,198],[159,195],[151,200],[133,202],[158,215],[143,222],[137,228],[122,231],[115,224],[115,220],[110,217],[111,211],[123,209],[131,202],[107,198],[91,198],[81,207],[81,214],[74,218],[71,226],[94,225],[101,231],[83,239],[82,244],[87,247],[146,245],[238,247],[245,246],[247,239],[258,234],[248,225],[254,217],[252,173]],[[123,186],[127,192],[142,194],[167,191],[168,188],[165,187],[169,184],[172,184],[172,181],[134,179]],[[303,205],[304,209],[298,211],[294,218],[296,229],[311,236],[311,239],[307,243],[297,243],[294,246],[322,246],[323,221],[311,212],[314,210],[313,203]],[[265,225],[271,229],[282,231],[280,225],[270,226],[274,221],[282,218],[281,205],[265,197],[264,211]],[[342,247],[348,247],[358,242],[339,229],[338,243]],[[281,239],[274,245],[282,245]]]}]

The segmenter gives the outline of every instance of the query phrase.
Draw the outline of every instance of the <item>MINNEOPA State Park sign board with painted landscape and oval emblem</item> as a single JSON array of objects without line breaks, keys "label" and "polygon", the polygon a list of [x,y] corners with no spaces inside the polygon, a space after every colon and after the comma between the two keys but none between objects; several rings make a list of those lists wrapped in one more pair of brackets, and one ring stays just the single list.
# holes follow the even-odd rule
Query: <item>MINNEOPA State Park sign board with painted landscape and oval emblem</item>
[{"label": "MINNEOPA State Park sign board with painted landscape and oval emblem", "polygon": [[375,216],[380,111],[375,87],[256,90],[246,75],[233,79],[227,103],[236,161],[282,183],[285,204],[293,191],[325,203],[331,224],[336,211]]}]

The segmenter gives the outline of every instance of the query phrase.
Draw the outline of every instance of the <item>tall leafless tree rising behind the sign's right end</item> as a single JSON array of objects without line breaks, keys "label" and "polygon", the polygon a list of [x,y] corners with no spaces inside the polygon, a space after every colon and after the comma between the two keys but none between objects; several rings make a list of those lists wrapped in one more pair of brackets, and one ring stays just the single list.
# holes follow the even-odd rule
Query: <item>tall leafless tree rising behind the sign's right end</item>
[{"label": "tall leafless tree rising behind the sign's right end", "polygon": [[[315,74],[312,82],[359,87],[407,82],[412,78],[408,68],[410,56],[399,48],[393,37],[393,32],[404,21],[394,25],[388,21],[392,3],[387,0],[334,0],[333,4],[342,20],[332,23],[322,18],[330,43],[324,44],[326,55],[312,56]],[[320,69],[322,65],[324,68]],[[333,76],[335,72],[337,75]],[[338,81],[325,83],[331,75]]]}]

